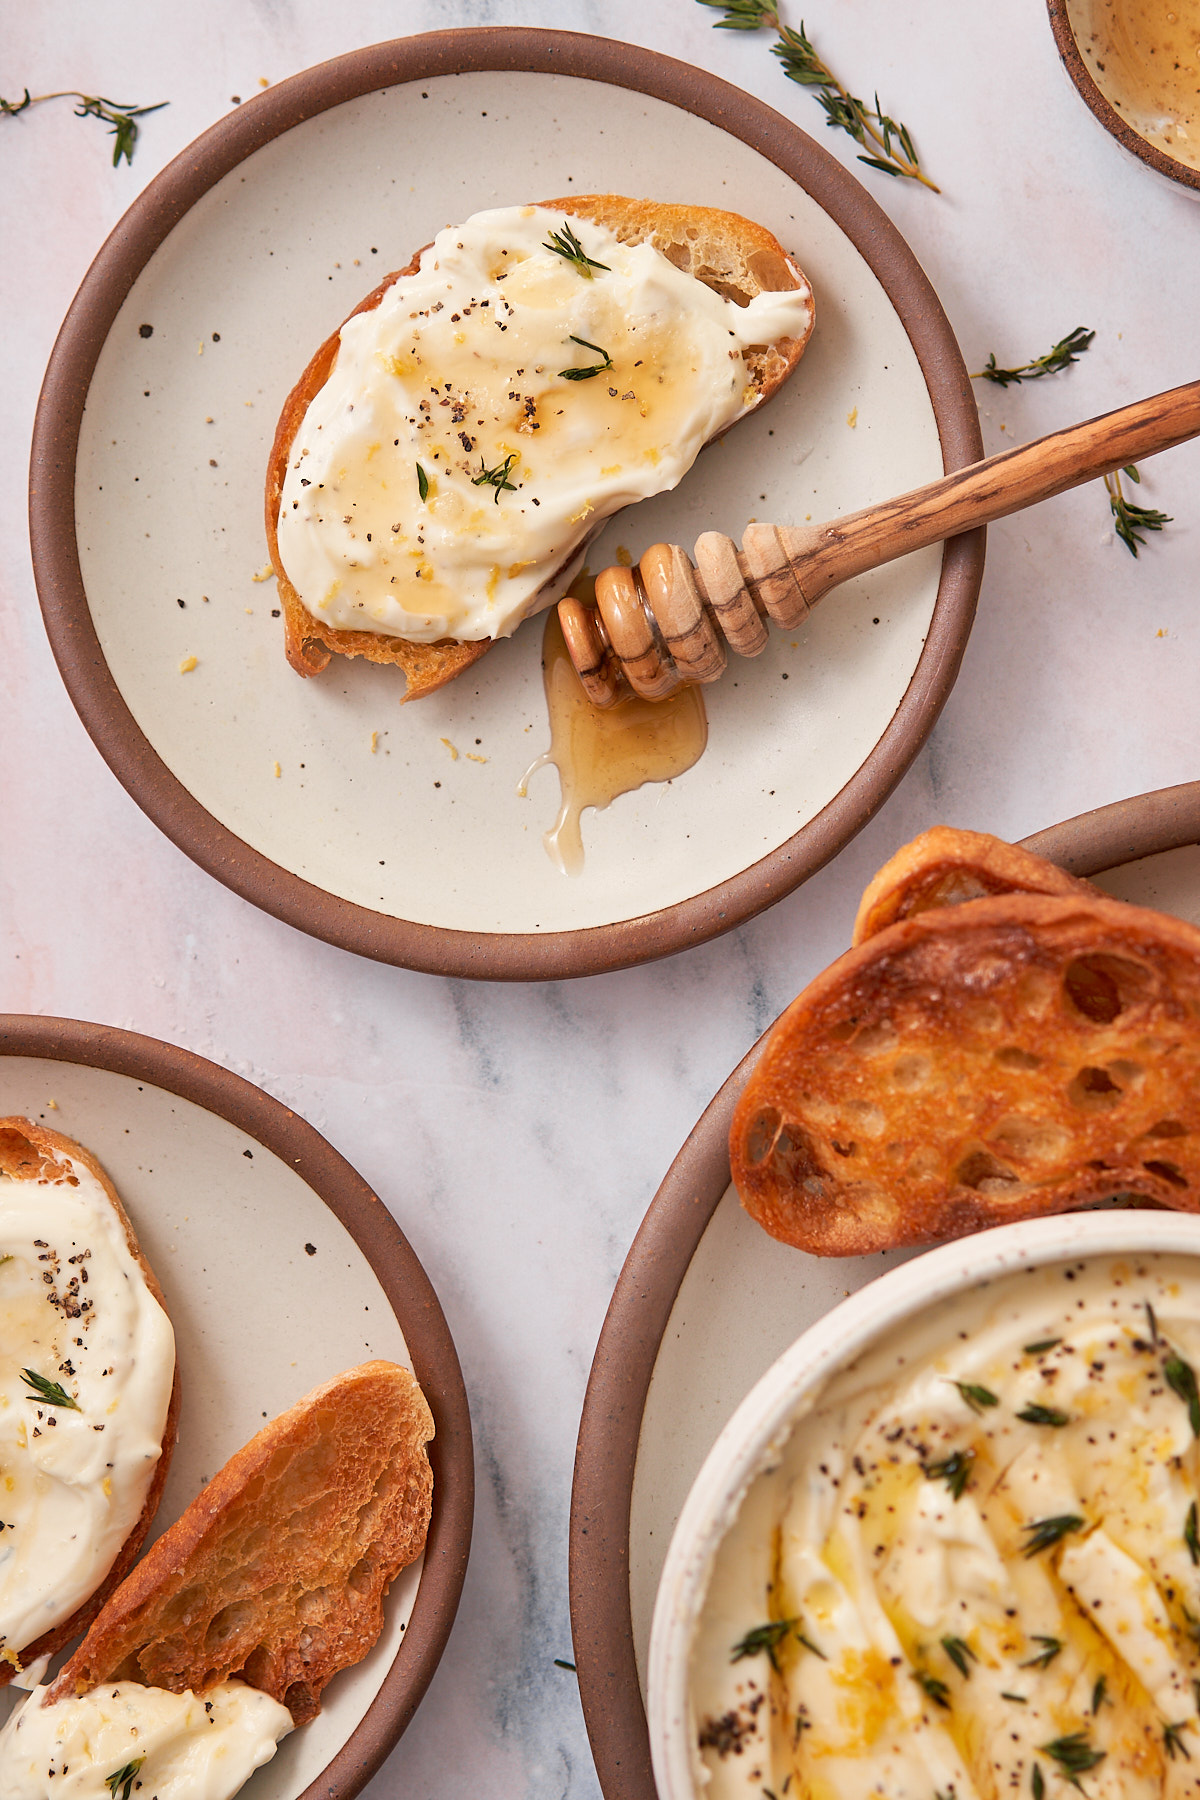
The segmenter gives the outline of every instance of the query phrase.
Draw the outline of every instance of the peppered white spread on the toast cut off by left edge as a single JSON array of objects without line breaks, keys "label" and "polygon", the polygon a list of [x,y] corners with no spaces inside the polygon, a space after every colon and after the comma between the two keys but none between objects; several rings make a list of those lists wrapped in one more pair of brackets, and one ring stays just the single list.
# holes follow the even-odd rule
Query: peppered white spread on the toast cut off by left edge
[{"label": "peppered white spread on the toast cut off by left edge", "polygon": [[[0,1654],[61,1624],[133,1530],[162,1451],[171,1321],[95,1175],[0,1175]],[[0,1784],[0,1793],[9,1789]]]}]

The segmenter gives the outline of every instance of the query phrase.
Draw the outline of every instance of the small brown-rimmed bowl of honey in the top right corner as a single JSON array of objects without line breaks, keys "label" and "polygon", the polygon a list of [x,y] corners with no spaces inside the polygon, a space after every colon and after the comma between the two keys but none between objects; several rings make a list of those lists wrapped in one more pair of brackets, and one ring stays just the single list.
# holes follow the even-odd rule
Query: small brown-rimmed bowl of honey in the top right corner
[{"label": "small brown-rimmed bowl of honey in the top right corner", "polygon": [[1105,130],[1200,198],[1195,0],[1047,0],[1067,74]]}]

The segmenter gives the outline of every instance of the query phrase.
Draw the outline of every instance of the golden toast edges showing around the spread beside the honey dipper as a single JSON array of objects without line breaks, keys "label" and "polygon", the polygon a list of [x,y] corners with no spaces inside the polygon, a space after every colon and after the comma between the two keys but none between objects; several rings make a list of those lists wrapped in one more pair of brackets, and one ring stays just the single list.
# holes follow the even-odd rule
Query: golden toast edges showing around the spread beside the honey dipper
[{"label": "golden toast edges showing around the spread beside the honey dipper", "polygon": [[[543,200],[540,205],[567,218],[594,220],[612,230],[622,243],[649,241],[676,268],[693,274],[705,286],[741,306],[756,293],[777,293],[808,286],[804,275],[772,232],[752,220],[741,218],[738,212],[721,212],[714,207],[658,205],[651,200],[628,200],[622,194],[569,194],[560,200]],[[425,250],[417,250],[405,268],[387,275],[349,313],[349,319],[371,311],[396,281],[414,275],[421,266],[423,254]],[[333,371],[338,356],[340,329],[320,346],[288,394],[279,416],[266,472],[266,542],[284,616],[284,652],[299,675],[320,673],[333,652],[349,657],[369,657],[372,662],[394,662],[405,671],[407,686],[403,698],[416,700],[421,695],[434,693],[434,689],[443,688],[455,675],[468,670],[491,648],[493,639],[484,637],[473,643],[457,643],[446,637],[425,644],[410,643],[403,637],[387,637],[378,632],[354,632],[327,625],[304,605],[288,578],[279,553],[279,508],[288,457],[313,398]],[[761,400],[770,400],[779,391],[801,360],[810,335],[811,310],[808,331],[802,337],[783,338],[777,344],[752,346],[745,353],[747,383]],[[606,517],[601,517],[596,531],[604,524]],[[547,601],[558,598],[552,589],[565,571],[578,562],[578,556],[579,547],[558,569],[549,571],[543,583]]]}]

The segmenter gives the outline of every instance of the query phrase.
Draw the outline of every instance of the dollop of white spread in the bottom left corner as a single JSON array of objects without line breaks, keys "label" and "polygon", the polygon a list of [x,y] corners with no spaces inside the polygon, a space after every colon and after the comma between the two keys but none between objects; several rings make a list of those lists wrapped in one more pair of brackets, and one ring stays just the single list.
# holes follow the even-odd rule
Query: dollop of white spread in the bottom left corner
[{"label": "dollop of white spread in the bottom left corner", "polygon": [[230,1800],[291,1730],[286,1706],[241,1681],[201,1696],[110,1681],[43,1697],[34,1688],[0,1732],[4,1800]]}]

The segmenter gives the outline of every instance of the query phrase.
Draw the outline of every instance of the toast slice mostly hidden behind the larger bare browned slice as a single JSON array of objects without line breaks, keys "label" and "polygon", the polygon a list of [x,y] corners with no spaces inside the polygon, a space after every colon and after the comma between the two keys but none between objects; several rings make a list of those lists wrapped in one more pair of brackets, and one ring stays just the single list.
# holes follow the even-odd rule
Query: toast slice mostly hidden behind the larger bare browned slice
[{"label": "toast slice mostly hidden behind the larger bare browned slice", "polygon": [[1006,844],[988,832],[957,832],[936,824],[905,844],[869,882],[851,943],[865,943],[876,931],[916,918],[937,905],[961,905],[988,895],[1092,895],[1090,882],[1067,875],[1045,857],[1020,844]]}]

